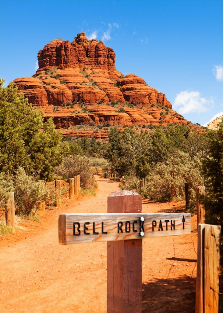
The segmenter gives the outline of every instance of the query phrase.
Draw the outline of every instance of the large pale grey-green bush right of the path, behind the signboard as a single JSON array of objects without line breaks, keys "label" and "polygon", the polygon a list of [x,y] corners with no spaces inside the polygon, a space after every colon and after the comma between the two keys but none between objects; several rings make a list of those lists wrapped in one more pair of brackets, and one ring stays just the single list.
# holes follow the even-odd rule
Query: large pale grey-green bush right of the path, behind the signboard
[{"label": "large pale grey-green bush right of the path, behind the signboard", "polygon": [[[174,178],[171,172],[174,173]],[[185,182],[187,182],[191,207],[194,207],[196,203],[195,188],[203,186],[204,183],[199,159],[197,157],[191,159],[189,154],[182,151],[177,151],[166,162],[158,162],[146,180],[148,198],[157,201],[173,198],[184,200]]]}]

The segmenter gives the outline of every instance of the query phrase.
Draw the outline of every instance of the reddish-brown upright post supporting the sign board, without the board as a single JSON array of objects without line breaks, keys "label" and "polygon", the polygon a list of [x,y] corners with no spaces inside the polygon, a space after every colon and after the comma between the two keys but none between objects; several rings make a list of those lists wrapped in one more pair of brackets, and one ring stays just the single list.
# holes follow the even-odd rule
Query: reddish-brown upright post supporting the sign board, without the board
[{"label": "reddish-brown upright post supporting the sign board, without the board", "polygon": [[[142,197],[118,190],[107,212],[141,213]],[[107,313],[142,313],[142,252],[142,239],[107,242]]]}]

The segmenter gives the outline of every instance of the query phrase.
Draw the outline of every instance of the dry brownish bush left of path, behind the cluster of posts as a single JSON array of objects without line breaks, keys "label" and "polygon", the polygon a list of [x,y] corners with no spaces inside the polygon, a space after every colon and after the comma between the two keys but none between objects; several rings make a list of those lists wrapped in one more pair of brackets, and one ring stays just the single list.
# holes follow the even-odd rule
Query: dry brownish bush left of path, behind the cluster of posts
[{"label": "dry brownish bush left of path, behind the cluster of posts", "polygon": [[90,188],[94,181],[90,159],[86,156],[65,157],[61,165],[55,168],[55,175],[62,176],[67,180],[75,175],[80,175],[80,185],[84,188]]}]

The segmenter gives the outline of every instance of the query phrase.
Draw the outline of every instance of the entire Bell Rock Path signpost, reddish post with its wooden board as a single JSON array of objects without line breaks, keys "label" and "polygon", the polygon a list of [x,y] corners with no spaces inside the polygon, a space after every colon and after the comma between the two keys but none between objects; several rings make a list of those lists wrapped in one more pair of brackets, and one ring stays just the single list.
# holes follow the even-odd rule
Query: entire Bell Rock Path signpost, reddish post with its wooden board
[{"label": "entire Bell Rock Path signpost, reddish post with its wooden board", "polygon": [[137,192],[108,196],[108,213],[62,214],[59,243],[107,241],[107,313],[142,313],[142,238],[191,233],[191,214],[142,212]]}]

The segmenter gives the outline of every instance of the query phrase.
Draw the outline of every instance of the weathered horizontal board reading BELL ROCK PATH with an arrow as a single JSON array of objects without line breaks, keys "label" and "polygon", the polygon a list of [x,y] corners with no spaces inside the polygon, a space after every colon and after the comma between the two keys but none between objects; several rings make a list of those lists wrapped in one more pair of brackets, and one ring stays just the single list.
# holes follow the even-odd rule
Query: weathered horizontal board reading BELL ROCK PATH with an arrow
[{"label": "weathered horizontal board reading BELL ROCK PATH with an arrow", "polygon": [[117,241],[191,233],[191,214],[62,214],[59,243]]}]

